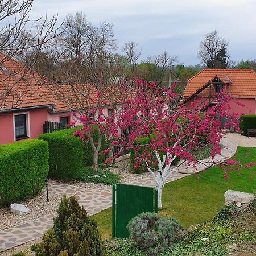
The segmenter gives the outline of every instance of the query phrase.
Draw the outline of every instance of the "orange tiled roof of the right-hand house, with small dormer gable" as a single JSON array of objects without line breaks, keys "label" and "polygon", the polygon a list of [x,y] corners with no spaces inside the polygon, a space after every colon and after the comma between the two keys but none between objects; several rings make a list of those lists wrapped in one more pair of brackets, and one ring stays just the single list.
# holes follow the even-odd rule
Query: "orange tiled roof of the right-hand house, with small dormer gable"
[{"label": "orange tiled roof of the right-hand house, with small dormer gable", "polygon": [[[188,80],[184,96],[191,96],[216,76],[227,84],[226,93],[234,98],[256,98],[256,73],[253,69],[203,69]],[[209,87],[200,93],[200,96],[208,95]]]}]

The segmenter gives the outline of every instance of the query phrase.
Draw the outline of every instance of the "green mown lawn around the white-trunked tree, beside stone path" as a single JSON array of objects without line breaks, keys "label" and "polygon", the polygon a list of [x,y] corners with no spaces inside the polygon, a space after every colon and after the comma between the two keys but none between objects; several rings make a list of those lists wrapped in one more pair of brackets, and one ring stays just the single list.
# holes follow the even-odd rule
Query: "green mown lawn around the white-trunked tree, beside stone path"
[{"label": "green mown lawn around the white-trunked tree, beside stone path", "polygon": [[[236,156],[241,163],[256,162],[256,147],[238,147]],[[254,172],[252,173],[251,170]],[[167,183],[163,190],[162,216],[173,216],[187,228],[190,225],[211,220],[218,209],[224,205],[224,193],[228,189],[254,193],[256,191],[256,167],[251,170],[242,168],[241,175],[230,172],[229,180],[225,180],[220,168],[212,167],[199,174]],[[253,179],[250,180],[249,177]],[[112,208],[92,216],[97,221],[103,238],[112,236]]]}]

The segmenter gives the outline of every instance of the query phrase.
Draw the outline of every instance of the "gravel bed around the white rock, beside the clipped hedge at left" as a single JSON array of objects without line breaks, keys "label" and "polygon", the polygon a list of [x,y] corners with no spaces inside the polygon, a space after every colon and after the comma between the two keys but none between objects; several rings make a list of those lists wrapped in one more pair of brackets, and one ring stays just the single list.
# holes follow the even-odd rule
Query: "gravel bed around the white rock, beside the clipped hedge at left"
[{"label": "gravel bed around the white rock, beside the clipped hedge at left", "polygon": [[27,215],[16,215],[10,212],[10,207],[0,208],[0,230],[18,226],[24,222],[35,220],[56,211],[61,195],[49,192],[50,201],[46,202],[46,191],[38,196],[22,202],[15,202],[25,205],[30,212]]}]

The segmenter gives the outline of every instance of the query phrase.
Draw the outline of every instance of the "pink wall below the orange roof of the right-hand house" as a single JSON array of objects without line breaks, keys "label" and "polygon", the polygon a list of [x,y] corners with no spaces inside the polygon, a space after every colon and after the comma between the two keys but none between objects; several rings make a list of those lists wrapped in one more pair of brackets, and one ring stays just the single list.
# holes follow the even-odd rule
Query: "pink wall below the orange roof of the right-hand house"
[{"label": "pink wall below the orange roof of the right-hand house", "polygon": [[[198,106],[201,102],[205,101],[205,97],[198,97],[196,99],[192,99],[188,101],[185,106],[188,109],[191,109],[192,102],[194,102],[195,106]],[[245,107],[240,106],[236,102],[240,102],[245,105]],[[237,100],[232,100],[230,102],[231,110],[233,113],[243,113],[243,114],[256,114],[256,100],[253,98],[240,98]]]}]

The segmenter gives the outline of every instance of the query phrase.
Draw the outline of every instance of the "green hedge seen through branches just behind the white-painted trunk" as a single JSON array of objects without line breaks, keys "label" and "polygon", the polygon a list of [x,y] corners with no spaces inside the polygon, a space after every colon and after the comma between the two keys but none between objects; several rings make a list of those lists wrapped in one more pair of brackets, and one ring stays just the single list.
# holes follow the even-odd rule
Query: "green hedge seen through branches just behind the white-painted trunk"
[{"label": "green hedge seen through branches just behind the white-painted trunk", "polygon": [[[155,137],[155,135],[152,134],[152,138],[154,138],[154,137]],[[143,145],[146,145],[146,144],[149,144],[149,143],[150,143],[150,139],[148,137],[137,138],[136,141],[134,141],[134,145],[141,145],[141,147],[138,150],[139,155],[142,155],[143,151],[146,148],[146,146],[143,146]],[[152,151],[153,150],[148,150],[148,153],[150,153]],[[143,172],[146,172],[147,168],[146,168],[146,166],[144,165],[143,162],[139,165],[138,168],[135,168],[135,164],[136,164],[135,158],[136,158],[135,150],[131,149],[130,150],[130,168],[131,168],[131,171],[135,172],[135,174],[142,174]],[[160,158],[161,159],[163,158],[163,152],[160,152]],[[172,164],[176,164],[178,161],[179,161],[179,158],[176,158],[174,160],[174,162],[172,162]],[[156,159],[155,155],[152,156],[152,162],[155,162],[155,164],[153,164],[152,167],[158,168],[158,162],[157,162],[157,159]]]}]

